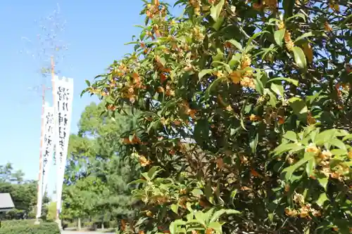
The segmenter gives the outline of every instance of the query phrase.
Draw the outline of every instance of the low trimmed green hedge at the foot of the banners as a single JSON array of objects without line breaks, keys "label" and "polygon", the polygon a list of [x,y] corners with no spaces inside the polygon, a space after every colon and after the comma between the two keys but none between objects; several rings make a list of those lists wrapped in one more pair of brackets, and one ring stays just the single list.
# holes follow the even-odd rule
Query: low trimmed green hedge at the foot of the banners
[{"label": "low trimmed green hedge at the foot of the banners", "polygon": [[60,234],[57,223],[34,224],[33,220],[1,222],[0,234]]}]

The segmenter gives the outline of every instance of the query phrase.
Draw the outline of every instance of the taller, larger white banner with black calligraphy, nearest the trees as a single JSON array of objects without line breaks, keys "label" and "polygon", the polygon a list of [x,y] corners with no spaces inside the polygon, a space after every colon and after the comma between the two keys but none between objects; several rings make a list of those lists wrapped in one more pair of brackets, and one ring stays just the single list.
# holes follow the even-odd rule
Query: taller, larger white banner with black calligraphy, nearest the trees
[{"label": "taller, larger white banner with black calligraphy, nearest the trees", "polygon": [[54,77],[54,110],[55,110],[55,157],[57,168],[56,181],[56,209],[61,212],[61,196],[63,190],[63,178],[68,152],[68,140],[70,138],[70,124],[73,103],[73,79]]}]

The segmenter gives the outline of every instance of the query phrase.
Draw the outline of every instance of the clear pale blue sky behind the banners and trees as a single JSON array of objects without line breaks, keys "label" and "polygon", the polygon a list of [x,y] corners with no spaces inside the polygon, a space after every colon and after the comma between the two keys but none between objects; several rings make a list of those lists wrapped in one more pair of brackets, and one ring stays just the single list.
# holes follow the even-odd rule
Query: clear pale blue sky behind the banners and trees
[{"label": "clear pale blue sky behind the banners and trees", "polygon": [[[114,59],[129,53],[132,47],[124,44],[138,34],[139,28],[133,26],[143,24],[139,15],[141,0],[0,1],[0,164],[11,162],[30,179],[37,178],[39,167],[42,100],[39,93],[28,88],[41,84],[42,78],[38,72],[40,64],[30,54],[20,53],[33,51],[22,38],[35,42],[37,34],[42,33],[35,20],[50,15],[57,4],[61,18],[67,22],[61,37],[68,45],[61,74],[75,81],[72,133],[77,131],[84,107],[95,100],[89,95],[80,98],[86,87],[84,79],[92,80]],[[50,177],[53,180],[54,175]]]}]

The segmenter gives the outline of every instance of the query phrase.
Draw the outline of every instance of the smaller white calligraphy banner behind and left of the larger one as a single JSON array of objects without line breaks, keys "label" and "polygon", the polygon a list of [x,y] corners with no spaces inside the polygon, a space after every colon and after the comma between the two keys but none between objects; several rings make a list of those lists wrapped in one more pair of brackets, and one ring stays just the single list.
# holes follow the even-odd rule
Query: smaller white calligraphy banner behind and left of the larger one
[{"label": "smaller white calligraphy banner behind and left of the larger one", "polygon": [[54,107],[48,103],[44,106],[44,139],[42,145],[43,158],[43,196],[48,184],[49,169],[54,154]]}]

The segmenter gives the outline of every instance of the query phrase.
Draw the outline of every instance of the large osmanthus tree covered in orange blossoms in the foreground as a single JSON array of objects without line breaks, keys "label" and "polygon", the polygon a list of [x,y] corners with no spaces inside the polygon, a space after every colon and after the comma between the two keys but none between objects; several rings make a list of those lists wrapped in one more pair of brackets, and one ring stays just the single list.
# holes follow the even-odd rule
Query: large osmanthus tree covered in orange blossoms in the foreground
[{"label": "large osmanthus tree covered in orange blossoms in the foreground", "polygon": [[131,230],[349,233],[351,2],[177,4],[145,1],[134,51],[84,90],[142,112]]}]

